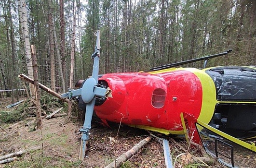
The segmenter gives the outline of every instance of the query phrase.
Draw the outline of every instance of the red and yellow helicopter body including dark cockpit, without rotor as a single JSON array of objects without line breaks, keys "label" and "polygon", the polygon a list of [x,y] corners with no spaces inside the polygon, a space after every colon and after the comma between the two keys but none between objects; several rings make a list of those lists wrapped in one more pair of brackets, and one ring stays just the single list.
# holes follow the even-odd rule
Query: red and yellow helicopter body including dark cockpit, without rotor
[{"label": "red and yellow helicopter body including dark cockpit, without rotor", "polygon": [[188,113],[240,139],[256,137],[256,68],[223,66],[108,73],[98,84],[112,98],[96,100],[94,112],[108,122],[164,134],[184,134]]}]

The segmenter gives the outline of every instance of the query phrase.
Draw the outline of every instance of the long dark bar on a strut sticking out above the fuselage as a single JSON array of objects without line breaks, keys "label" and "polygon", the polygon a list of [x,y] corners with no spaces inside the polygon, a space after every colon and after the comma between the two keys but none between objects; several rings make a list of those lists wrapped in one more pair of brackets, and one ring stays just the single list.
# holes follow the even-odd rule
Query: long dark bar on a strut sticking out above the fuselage
[{"label": "long dark bar on a strut sticking out above the fuselage", "polygon": [[204,66],[203,66],[203,68],[205,68],[206,64],[207,64],[207,60],[209,60],[211,58],[227,55],[231,51],[232,51],[232,49],[229,49],[229,50],[227,50],[225,52],[222,52],[222,53],[219,53],[219,54],[204,56],[204,57],[196,58],[196,59],[192,59],[192,60],[185,60],[185,61],[181,61],[181,62],[175,62],[175,63],[171,63],[171,64],[167,64],[167,65],[162,65],[162,66],[150,68],[150,70],[152,70],[152,71],[163,70],[163,69],[172,68],[172,67],[179,66],[179,65],[184,65],[184,64],[187,64],[187,63],[191,63],[191,62],[197,62],[197,61],[200,61],[200,60],[205,60],[204,61]]}]

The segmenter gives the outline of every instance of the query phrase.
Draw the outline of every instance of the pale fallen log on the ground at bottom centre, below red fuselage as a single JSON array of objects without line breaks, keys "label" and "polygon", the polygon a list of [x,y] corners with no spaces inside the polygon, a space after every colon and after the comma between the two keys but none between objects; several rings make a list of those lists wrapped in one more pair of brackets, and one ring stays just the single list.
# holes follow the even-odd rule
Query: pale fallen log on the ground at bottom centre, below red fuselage
[{"label": "pale fallen log on the ground at bottom centre, below red fuselage", "polygon": [[126,162],[129,158],[134,156],[145,144],[147,144],[151,140],[151,137],[148,136],[144,140],[140,141],[138,144],[135,144],[135,146],[130,149],[129,151],[123,153],[121,156],[119,156],[116,160],[111,162],[107,167],[105,168],[119,168],[122,163]]}]

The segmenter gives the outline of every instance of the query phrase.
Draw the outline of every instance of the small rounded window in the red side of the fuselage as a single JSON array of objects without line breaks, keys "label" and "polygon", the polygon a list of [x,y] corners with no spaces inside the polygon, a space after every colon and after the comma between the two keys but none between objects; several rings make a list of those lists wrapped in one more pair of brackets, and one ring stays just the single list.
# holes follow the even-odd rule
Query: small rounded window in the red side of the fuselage
[{"label": "small rounded window in the red side of the fuselage", "polygon": [[157,88],[153,91],[152,94],[152,106],[155,108],[162,108],[164,106],[166,92],[161,88]]}]

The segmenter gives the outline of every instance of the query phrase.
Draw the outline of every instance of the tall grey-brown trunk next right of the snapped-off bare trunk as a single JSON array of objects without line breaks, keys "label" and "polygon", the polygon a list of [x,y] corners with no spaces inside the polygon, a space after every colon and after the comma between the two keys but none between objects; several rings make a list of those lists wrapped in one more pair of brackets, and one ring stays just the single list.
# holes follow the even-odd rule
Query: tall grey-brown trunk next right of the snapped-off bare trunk
[{"label": "tall grey-brown trunk next right of the snapped-off bare trunk", "polygon": [[53,24],[53,5],[52,0],[48,1],[49,13],[48,13],[48,24],[49,24],[49,43],[50,43],[50,62],[51,62],[51,87],[55,91],[55,57],[54,57],[54,24]]}]

